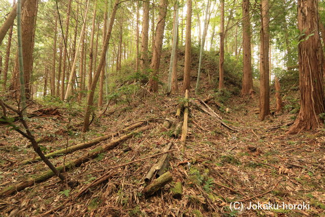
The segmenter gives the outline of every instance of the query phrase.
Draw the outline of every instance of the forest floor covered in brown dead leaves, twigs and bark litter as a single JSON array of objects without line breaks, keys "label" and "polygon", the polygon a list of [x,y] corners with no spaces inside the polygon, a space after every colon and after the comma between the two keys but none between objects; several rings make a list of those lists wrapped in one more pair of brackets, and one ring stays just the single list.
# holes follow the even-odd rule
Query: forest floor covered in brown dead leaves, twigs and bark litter
[{"label": "forest floor covered in brown dead leaves, twigs and bark litter", "polygon": [[[190,94],[189,97],[194,97]],[[139,120],[168,118],[172,127],[149,121],[149,130],[135,134],[115,148],[100,153],[80,167],[64,173],[79,185],[71,189],[57,177],[35,183],[14,195],[0,198],[0,215],[36,216],[66,201],[52,212],[54,216],[301,216],[323,215],[325,212],[325,134],[323,129],[299,135],[286,134],[285,123],[292,121],[284,112],[258,119],[258,96],[253,99],[231,98],[223,107],[209,106],[224,122],[238,132],[220,125],[214,117],[189,105],[188,135],[182,146],[179,138],[171,138],[177,122],[175,113],[181,95],[152,95],[137,105],[118,105],[95,118],[90,131],[81,133],[77,123],[80,111],[56,109],[29,119],[38,138],[51,135],[53,140],[41,143],[51,152],[110,134]],[[201,96],[203,99],[204,96]],[[275,106],[272,102],[273,107]],[[42,108],[32,105],[28,112]],[[274,109],[272,109],[274,110]],[[180,118],[182,119],[182,117]],[[72,126],[72,127],[69,127]],[[281,126],[281,127],[279,127]],[[69,130],[64,130],[69,127]],[[275,129],[273,129],[275,128]],[[58,133],[61,130],[61,133]],[[118,137],[118,136],[116,136]],[[90,148],[50,159],[55,166],[76,159],[87,151],[109,143],[111,138]],[[150,197],[142,194],[144,176],[159,157],[165,145],[173,141],[169,168],[173,182]],[[21,165],[35,156],[29,142],[5,125],[0,126],[0,190],[47,170],[43,162]],[[90,152],[90,151],[89,151]],[[146,159],[147,158],[147,159]],[[145,159],[145,160],[141,160]],[[132,161],[141,160],[135,163]],[[130,163],[131,162],[131,163]],[[129,163],[129,164],[128,164]],[[124,165],[124,166],[119,166]],[[74,196],[89,183],[109,172],[103,183]],[[180,199],[172,197],[176,181],[183,186]],[[69,200],[71,199],[71,200]],[[230,203],[310,204],[308,210],[242,210],[232,211]]]}]

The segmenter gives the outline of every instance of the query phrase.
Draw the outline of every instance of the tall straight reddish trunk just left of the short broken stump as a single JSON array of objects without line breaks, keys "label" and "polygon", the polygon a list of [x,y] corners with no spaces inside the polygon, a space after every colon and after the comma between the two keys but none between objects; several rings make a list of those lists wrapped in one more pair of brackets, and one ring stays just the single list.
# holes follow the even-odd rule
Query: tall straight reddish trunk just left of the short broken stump
[{"label": "tall straight reddish trunk just left of the short broken stump", "polygon": [[265,119],[270,114],[269,87],[269,0],[262,0],[261,5],[261,76],[259,87],[259,118]]}]

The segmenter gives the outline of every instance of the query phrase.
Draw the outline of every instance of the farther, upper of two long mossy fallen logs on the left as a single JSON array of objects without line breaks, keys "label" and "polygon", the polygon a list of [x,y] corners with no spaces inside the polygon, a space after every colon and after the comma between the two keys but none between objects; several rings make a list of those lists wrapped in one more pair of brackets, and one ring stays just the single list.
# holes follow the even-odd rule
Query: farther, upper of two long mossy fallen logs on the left
[{"label": "farther, upper of two long mossy fallen logs on the left", "polygon": [[[107,139],[109,139],[111,137],[114,137],[114,136],[118,136],[122,132],[127,132],[129,130],[133,130],[133,129],[137,128],[137,127],[140,127],[141,125],[143,125],[143,123],[144,123],[144,121],[137,122],[137,123],[134,123],[133,125],[130,125],[130,126],[124,128],[124,129],[122,129],[121,131],[118,131],[118,132],[115,132],[115,133],[112,133],[112,134],[107,134],[105,136],[101,136],[101,137],[89,140],[87,142],[79,143],[79,144],[70,146],[68,148],[62,148],[60,150],[53,151],[51,153],[45,154],[45,157],[52,158],[52,157],[59,156],[61,154],[68,154],[68,153],[72,153],[72,152],[75,152],[75,151],[80,150],[80,149],[91,147],[91,146],[93,146],[95,144],[100,143],[101,141],[107,140]],[[25,160],[25,161],[21,162],[20,164],[24,165],[24,164],[34,163],[34,162],[38,162],[38,161],[41,161],[40,157]]]}]

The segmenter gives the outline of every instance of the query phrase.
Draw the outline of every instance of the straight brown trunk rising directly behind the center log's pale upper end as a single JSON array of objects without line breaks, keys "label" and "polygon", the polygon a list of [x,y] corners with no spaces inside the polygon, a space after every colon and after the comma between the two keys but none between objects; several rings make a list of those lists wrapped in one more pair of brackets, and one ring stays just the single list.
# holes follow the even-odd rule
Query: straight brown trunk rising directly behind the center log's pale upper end
[{"label": "straight brown trunk rising directly behind the center log's pale upper end", "polygon": [[[192,0],[187,0],[183,92],[190,87]],[[183,35],[183,34],[182,34]]]}]

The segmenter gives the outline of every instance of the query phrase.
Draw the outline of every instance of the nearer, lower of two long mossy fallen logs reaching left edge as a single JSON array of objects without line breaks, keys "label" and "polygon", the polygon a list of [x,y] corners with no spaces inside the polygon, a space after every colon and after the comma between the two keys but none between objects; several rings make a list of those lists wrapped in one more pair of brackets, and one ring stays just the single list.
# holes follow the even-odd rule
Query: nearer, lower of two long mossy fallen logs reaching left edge
[{"label": "nearer, lower of two long mossy fallen logs reaching left edge", "polygon": [[[82,157],[80,157],[74,161],[68,162],[64,166],[56,167],[56,169],[59,172],[73,170],[75,167],[79,167],[81,164],[88,162],[91,159],[96,158],[100,153],[103,153],[105,151],[115,148],[121,141],[129,139],[140,132],[148,130],[149,128],[150,128],[150,126],[144,126],[144,127],[139,128],[138,130],[135,130],[131,133],[125,134],[125,135],[105,144],[105,145],[102,145],[100,147],[89,150],[88,153],[85,153]],[[45,180],[51,178],[54,175],[55,174],[53,173],[52,170],[47,170],[47,171],[43,172],[42,174],[33,176],[31,178],[28,178],[25,181],[21,181],[17,184],[13,184],[9,187],[2,189],[0,191],[0,196],[10,195],[15,192],[24,190],[25,188],[31,187],[32,185],[34,185],[34,183],[40,183],[42,181],[45,181]]]}]

